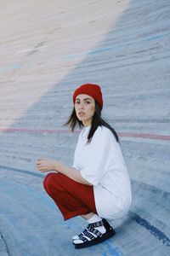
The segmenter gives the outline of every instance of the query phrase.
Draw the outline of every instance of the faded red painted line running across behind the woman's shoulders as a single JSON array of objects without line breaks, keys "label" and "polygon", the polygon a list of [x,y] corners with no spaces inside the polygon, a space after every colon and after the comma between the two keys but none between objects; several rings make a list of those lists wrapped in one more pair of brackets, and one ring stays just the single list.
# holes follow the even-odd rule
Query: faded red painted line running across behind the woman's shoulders
[{"label": "faded red painted line running across behind the woman's shoulders", "polygon": [[[39,130],[39,129],[13,129],[13,128],[0,128],[0,132],[38,132],[38,133],[66,133],[66,134],[71,134],[71,133],[76,133],[79,134],[80,131],[74,131],[71,132],[69,130]],[[118,136],[120,137],[142,137],[142,138],[147,138],[147,139],[154,139],[154,140],[166,140],[170,141],[170,136],[169,135],[157,135],[157,134],[142,134],[142,133],[131,133],[131,132],[117,132]]]}]

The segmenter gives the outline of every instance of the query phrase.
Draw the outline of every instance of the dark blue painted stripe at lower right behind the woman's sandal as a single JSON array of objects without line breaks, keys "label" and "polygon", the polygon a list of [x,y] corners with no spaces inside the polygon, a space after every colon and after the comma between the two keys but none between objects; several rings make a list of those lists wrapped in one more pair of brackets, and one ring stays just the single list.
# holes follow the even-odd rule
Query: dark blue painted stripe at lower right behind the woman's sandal
[{"label": "dark blue painted stripe at lower right behind the woman's sandal", "polygon": [[137,224],[143,226],[146,230],[149,230],[150,233],[160,241],[163,242],[164,245],[170,247],[170,239],[163,233],[161,230],[158,230],[154,225],[151,225],[146,219],[141,218],[138,214],[134,212],[129,212],[130,218],[135,221]]}]

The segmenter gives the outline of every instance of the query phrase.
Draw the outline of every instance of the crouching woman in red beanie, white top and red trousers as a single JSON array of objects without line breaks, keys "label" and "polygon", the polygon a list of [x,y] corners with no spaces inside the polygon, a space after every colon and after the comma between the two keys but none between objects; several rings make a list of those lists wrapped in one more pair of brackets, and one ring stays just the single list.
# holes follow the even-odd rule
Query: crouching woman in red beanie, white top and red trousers
[{"label": "crouching woman in red beanie, white top and red trousers", "polygon": [[116,131],[100,114],[102,93],[97,84],[82,84],[73,95],[74,108],[66,123],[78,138],[74,165],[38,159],[40,172],[49,172],[43,186],[64,219],[81,215],[88,226],[72,241],[76,248],[89,247],[115,235],[106,219],[122,218],[131,205],[131,184]]}]

